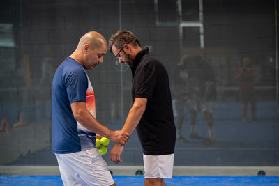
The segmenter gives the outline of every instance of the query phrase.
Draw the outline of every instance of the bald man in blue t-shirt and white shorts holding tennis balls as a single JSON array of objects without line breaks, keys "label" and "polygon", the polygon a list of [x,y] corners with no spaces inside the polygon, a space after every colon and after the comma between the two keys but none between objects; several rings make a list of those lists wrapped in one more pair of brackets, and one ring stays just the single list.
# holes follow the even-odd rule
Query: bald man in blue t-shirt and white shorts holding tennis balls
[{"label": "bald man in blue t-shirt and white shorts holding tennis balls", "polygon": [[107,53],[107,41],[85,33],[57,68],[52,82],[52,153],[63,185],[115,185],[94,144],[96,134],[126,144],[127,132],[112,131],[96,120],[95,94],[85,69],[93,70]]}]

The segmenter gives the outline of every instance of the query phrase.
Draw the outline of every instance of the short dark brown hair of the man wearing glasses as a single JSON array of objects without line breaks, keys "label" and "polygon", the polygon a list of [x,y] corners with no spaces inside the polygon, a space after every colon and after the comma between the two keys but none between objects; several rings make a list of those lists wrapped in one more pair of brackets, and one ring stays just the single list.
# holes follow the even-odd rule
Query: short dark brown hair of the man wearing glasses
[{"label": "short dark brown hair of the man wearing glasses", "polygon": [[137,39],[134,33],[131,31],[117,31],[110,37],[109,49],[112,52],[112,45],[117,49],[121,49],[123,45],[130,43],[133,47],[140,46],[140,41]]}]

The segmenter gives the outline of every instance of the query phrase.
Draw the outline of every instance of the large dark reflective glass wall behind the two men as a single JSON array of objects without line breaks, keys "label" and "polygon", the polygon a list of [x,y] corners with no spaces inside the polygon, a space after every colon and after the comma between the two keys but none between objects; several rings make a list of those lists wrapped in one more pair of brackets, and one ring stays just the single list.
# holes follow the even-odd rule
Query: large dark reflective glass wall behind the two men
[{"label": "large dark reflective glass wall behind the two men", "polygon": [[[0,3],[0,165],[57,165],[52,77],[87,31],[133,31],[165,65],[175,166],[278,166],[278,17],[274,1],[33,0]],[[131,72],[107,53],[89,70],[96,118],[119,130]],[[112,144],[109,148],[112,147]],[[107,164],[110,155],[103,156]],[[142,165],[133,132],[121,165]]]}]

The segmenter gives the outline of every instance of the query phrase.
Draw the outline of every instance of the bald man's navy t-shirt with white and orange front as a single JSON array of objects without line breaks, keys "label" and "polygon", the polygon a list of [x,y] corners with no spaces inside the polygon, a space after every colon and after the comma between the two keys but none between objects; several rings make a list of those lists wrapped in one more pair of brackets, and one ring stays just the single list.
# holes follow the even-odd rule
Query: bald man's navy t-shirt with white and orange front
[{"label": "bald man's navy t-shirt with white and orange front", "polygon": [[86,102],[96,117],[95,94],[84,67],[68,57],[57,68],[52,82],[52,153],[75,153],[95,143],[94,132],[78,123],[70,104]]}]

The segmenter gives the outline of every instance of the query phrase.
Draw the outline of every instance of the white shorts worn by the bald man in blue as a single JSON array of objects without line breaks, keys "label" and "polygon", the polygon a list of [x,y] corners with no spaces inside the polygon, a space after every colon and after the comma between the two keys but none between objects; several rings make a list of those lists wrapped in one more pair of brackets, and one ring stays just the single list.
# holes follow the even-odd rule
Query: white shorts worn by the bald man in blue
[{"label": "white shorts worn by the bald man in blue", "polygon": [[114,180],[97,148],[77,153],[55,154],[63,185],[112,185]]}]

